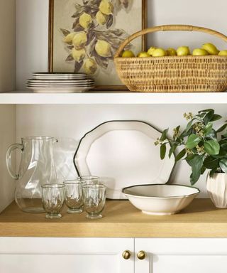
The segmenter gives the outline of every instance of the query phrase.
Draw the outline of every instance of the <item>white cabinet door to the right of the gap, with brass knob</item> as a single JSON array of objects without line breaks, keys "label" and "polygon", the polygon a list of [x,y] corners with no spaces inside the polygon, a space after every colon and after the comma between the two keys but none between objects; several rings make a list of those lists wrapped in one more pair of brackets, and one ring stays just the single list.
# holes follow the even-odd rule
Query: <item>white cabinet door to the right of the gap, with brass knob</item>
[{"label": "white cabinet door to the right of the gap, with brass knob", "polygon": [[[143,250],[145,259],[138,259]],[[135,239],[135,273],[226,273],[227,239]]]}]

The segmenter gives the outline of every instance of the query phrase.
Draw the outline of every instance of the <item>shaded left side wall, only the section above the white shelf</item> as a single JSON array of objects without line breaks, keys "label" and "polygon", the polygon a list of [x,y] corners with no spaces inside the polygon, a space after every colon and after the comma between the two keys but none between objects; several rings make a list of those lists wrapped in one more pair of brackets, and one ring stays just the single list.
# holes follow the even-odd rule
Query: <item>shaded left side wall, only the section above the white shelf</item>
[{"label": "shaded left side wall, only the section above the white shelf", "polygon": [[0,92],[15,90],[16,0],[0,0]]}]

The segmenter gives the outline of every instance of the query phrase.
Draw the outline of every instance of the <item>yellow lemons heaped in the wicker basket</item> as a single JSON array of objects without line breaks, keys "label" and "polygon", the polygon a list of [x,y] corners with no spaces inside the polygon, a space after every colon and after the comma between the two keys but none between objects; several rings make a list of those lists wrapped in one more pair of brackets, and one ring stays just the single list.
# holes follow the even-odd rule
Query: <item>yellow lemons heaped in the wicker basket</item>
[{"label": "yellow lemons heaped in the wicker basket", "polygon": [[[213,43],[204,43],[201,48],[195,48],[190,52],[188,46],[180,46],[175,50],[175,48],[168,48],[167,50],[163,48],[155,48],[154,46],[150,47],[147,52],[143,51],[138,53],[137,57],[145,58],[145,57],[164,57],[164,56],[205,56],[205,55],[219,55],[219,56],[227,56],[227,50],[218,50]],[[133,51],[126,50],[121,55],[123,58],[133,58],[135,57]]]}]

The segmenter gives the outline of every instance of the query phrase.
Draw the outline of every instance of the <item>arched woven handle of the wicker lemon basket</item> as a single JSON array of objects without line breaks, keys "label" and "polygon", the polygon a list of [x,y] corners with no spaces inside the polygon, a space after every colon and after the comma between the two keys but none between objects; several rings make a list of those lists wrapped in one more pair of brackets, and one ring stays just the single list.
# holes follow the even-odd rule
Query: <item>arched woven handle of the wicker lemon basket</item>
[{"label": "arched woven handle of the wicker lemon basket", "polygon": [[123,43],[121,43],[120,47],[116,51],[116,54],[114,55],[114,58],[118,58],[121,55],[121,52],[123,49],[133,41],[135,38],[139,36],[143,36],[148,33],[153,33],[157,31],[200,31],[204,33],[209,33],[211,35],[214,35],[218,38],[221,38],[223,41],[227,43],[227,36],[223,35],[222,33],[218,31],[214,31],[210,28],[202,28],[200,26],[189,26],[189,25],[163,25],[163,26],[154,26],[153,28],[145,28],[142,31],[138,31],[134,33],[133,35],[129,36]]}]

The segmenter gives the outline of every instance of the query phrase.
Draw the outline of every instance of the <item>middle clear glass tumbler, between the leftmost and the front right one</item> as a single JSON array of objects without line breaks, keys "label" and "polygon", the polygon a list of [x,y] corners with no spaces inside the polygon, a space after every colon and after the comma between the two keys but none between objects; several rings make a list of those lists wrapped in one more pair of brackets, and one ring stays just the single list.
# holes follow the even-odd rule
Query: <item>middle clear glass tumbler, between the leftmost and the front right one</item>
[{"label": "middle clear glass tumbler, between the leftmost and the front right one", "polygon": [[86,182],[80,178],[64,181],[65,185],[65,205],[67,205],[67,213],[82,213],[83,198],[82,185]]}]

